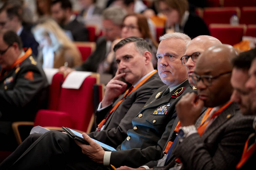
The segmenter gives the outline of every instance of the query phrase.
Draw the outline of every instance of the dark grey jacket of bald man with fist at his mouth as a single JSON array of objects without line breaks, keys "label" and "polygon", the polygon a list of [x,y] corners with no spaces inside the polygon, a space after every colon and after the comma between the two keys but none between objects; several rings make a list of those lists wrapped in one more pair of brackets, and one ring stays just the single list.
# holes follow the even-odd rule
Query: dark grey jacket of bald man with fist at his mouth
[{"label": "dark grey jacket of bald man with fist at his mouth", "polygon": [[235,121],[230,121],[215,140],[208,139],[218,143],[216,152],[212,155],[207,149],[211,147],[211,143],[204,143],[198,133],[185,138],[174,149],[174,155],[183,162],[183,168],[187,170],[235,169],[245,141],[252,132],[250,122],[252,121],[249,118],[239,117]]}]

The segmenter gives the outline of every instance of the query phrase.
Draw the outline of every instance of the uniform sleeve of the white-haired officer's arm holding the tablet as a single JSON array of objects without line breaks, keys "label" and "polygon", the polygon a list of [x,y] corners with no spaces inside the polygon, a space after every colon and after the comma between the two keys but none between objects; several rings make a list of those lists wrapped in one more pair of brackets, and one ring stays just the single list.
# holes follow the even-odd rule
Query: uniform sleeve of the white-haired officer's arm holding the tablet
[{"label": "uniform sleeve of the white-haired officer's arm holding the tablet", "polygon": [[158,140],[156,146],[149,146],[144,149],[133,148],[128,150],[112,151],[110,164],[114,165],[115,167],[126,165],[132,168],[138,168],[151,160],[158,160],[170,135],[170,131],[176,116],[177,115],[175,112],[167,124],[161,139]]}]

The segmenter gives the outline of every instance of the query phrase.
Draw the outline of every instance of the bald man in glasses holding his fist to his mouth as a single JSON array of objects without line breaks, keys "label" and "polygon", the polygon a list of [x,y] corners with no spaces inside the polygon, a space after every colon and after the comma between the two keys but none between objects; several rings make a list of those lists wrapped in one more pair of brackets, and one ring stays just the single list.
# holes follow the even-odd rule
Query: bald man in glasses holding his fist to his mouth
[{"label": "bald man in glasses holding his fist to his mouth", "polygon": [[[174,148],[169,169],[181,162],[183,169],[234,169],[240,159],[244,143],[252,133],[253,119],[242,116],[239,107],[230,101],[231,59],[237,55],[230,45],[215,45],[197,59],[193,83],[198,95],[184,95],[176,105],[180,120],[180,144]],[[196,129],[203,106],[208,107]],[[177,159],[178,158],[178,161]]]}]

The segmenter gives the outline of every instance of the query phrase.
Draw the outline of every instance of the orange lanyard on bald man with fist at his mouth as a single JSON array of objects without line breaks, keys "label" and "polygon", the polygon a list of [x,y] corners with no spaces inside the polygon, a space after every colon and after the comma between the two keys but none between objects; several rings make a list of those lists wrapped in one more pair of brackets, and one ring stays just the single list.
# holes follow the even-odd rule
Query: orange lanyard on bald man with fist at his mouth
[{"label": "orange lanyard on bald man with fist at his mouth", "polygon": [[199,133],[200,136],[202,136],[202,134],[204,133],[204,129],[208,125],[209,121],[212,120],[214,117],[219,116],[220,113],[223,112],[223,110],[226,109],[232,102],[233,101],[229,101],[224,106],[222,106],[219,110],[214,112],[212,114],[212,117],[209,120],[207,120],[207,119],[210,116],[210,112],[212,111],[213,108],[207,109],[206,113],[204,114],[203,120],[201,121],[201,125],[197,128],[197,132]]}]

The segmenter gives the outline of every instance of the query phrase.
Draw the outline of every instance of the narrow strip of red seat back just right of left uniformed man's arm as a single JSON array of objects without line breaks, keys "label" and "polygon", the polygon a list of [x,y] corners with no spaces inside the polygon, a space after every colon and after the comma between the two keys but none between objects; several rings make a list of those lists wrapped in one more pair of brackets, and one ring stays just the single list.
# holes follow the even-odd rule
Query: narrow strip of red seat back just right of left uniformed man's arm
[{"label": "narrow strip of red seat back just right of left uniformed man's arm", "polygon": [[48,96],[48,109],[50,110],[57,110],[58,108],[62,82],[63,82],[63,74],[56,73],[52,77],[52,84],[49,86],[49,96]]}]

